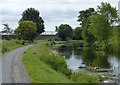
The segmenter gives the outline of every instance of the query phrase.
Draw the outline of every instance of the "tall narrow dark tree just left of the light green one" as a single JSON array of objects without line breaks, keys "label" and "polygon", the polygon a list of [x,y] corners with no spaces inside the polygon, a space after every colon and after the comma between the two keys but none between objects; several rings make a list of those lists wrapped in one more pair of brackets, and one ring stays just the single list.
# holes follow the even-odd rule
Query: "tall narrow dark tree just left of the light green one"
[{"label": "tall narrow dark tree just left of the light green one", "polygon": [[85,46],[91,46],[94,42],[94,36],[89,31],[90,28],[90,20],[89,17],[95,13],[94,8],[89,8],[86,10],[82,10],[79,12],[78,21],[80,22],[81,28],[82,28],[82,38],[84,40]]}]

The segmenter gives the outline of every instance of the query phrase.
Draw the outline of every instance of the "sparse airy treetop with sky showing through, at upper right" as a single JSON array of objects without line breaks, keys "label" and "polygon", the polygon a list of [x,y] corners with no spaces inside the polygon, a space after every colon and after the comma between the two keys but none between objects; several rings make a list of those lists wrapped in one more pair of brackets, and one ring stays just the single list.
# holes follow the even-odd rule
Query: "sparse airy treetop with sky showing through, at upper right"
[{"label": "sparse airy treetop with sky showing through, at upper right", "polygon": [[104,15],[110,24],[117,20],[117,10],[110,3],[102,2],[97,8],[97,12],[100,15]]}]

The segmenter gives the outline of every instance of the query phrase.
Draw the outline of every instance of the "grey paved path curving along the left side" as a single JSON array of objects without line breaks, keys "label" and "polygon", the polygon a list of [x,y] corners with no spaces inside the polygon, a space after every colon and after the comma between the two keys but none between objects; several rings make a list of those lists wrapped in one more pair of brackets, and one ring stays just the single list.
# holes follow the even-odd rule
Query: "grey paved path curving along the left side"
[{"label": "grey paved path curving along the left side", "polygon": [[[22,64],[22,53],[34,45],[28,45],[6,53],[2,63],[2,83],[30,83],[30,78]],[[2,61],[2,62],[1,62]]]}]

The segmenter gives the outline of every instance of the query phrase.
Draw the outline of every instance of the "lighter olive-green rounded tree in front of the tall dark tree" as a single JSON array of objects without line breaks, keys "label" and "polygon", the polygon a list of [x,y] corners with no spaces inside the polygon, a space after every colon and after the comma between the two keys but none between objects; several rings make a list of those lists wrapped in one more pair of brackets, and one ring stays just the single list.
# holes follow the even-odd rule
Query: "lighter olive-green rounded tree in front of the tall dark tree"
[{"label": "lighter olive-green rounded tree in front of the tall dark tree", "polygon": [[19,39],[33,41],[36,33],[36,24],[32,21],[21,21],[14,32]]}]

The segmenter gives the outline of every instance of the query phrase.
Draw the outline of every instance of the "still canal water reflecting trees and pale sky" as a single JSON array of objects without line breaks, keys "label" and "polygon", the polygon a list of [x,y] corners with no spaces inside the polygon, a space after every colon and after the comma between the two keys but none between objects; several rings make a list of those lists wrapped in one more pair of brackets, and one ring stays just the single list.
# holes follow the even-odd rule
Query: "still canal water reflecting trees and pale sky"
[{"label": "still canal water reflecting trees and pale sky", "polygon": [[67,65],[73,71],[80,70],[78,67],[84,63],[87,66],[98,66],[113,69],[113,74],[120,74],[120,58],[110,53],[95,51],[92,48],[80,47],[80,43],[69,43],[54,48],[54,52],[65,56]]}]

